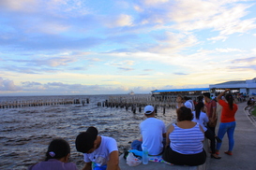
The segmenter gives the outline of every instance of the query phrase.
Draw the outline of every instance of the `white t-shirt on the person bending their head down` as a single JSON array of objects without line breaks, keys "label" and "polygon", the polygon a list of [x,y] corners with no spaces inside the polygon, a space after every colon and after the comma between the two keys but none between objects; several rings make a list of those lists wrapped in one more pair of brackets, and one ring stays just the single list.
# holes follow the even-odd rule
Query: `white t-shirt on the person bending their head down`
[{"label": "white t-shirt on the person bending their head down", "polygon": [[83,153],[85,163],[96,163],[98,166],[103,166],[108,163],[110,154],[117,149],[116,141],[112,137],[101,136],[101,143],[98,149],[92,153]]}]

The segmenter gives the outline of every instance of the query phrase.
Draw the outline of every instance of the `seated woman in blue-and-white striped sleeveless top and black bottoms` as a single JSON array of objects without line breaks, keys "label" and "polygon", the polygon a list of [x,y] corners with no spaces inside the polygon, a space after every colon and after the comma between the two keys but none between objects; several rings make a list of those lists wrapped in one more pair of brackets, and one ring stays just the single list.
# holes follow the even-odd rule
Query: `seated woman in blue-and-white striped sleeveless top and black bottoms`
[{"label": "seated woman in blue-and-white striped sleeveless top and black bottoms", "polygon": [[173,123],[166,134],[167,146],[162,155],[164,161],[190,166],[205,163],[203,127],[192,119],[191,109],[186,106],[177,109],[177,123]]}]

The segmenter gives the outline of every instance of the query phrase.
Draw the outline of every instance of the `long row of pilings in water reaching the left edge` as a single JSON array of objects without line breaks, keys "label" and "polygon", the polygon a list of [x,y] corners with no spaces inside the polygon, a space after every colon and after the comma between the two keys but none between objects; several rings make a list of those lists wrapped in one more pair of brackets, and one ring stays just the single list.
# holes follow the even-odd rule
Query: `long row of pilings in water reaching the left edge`
[{"label": "long row of pilings in water reaching the left edge", "polygon": [[0,108],[17,108],[27,106],[57,106],[57,105],[76,105],[89,104],[90,99],[49,99],[49,100],[27,100],[27,101],[7,101],[1,102]]}]

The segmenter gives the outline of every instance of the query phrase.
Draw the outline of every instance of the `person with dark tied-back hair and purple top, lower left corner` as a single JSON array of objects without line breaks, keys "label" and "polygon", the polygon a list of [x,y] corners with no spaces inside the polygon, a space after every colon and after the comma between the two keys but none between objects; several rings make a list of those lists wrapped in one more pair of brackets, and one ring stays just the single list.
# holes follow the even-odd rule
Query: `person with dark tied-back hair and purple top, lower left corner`
[{"label": "person with dark tied-back hair and purple top, lower left corner", "polygon": [[45,162],[32,165],[28,170],[78,170],[75,163],[68,163],[70,146],[62,138],[53,139],[46,152]]}]

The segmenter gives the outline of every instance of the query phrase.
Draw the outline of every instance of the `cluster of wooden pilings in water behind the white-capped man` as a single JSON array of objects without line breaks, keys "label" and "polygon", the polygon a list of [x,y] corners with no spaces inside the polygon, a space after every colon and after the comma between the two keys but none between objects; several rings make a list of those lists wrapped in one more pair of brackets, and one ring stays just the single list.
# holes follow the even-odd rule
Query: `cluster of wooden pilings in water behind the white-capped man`
[{"label": "cluster of wooden pilings in water behind the white-capped man", "polygon": [[158,113],[159,109],[162,108],[162,113],[165,114],[166,108],[175,108],[175,100],[159,102],[151,96],[112,96],[109,97],[109,100],[98,102],[98,106],[103,107],[126,108],[127,111],[130,108],[131,112],[134,114],[137,110],[141,113],[143,111],[143,107],[147,105],[154,106],[156,113]]}]

